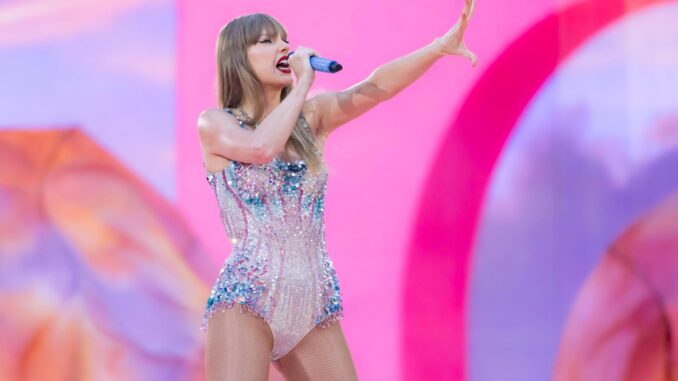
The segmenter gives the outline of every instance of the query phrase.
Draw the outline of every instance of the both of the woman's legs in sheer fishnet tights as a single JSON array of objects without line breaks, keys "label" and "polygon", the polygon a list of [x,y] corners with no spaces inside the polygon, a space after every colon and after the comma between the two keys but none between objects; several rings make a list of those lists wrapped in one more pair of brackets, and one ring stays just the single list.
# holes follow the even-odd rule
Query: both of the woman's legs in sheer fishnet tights
[{"label": "both of the woman's legs in sheer fishnet tights", "polygon": [[[239,308],[215,312],[207,328],[207,381],[266,381],[273,335],[261,318]],[[273,362],[288,381],[357,380],[339,322],[314,328],[289,353]]]}]

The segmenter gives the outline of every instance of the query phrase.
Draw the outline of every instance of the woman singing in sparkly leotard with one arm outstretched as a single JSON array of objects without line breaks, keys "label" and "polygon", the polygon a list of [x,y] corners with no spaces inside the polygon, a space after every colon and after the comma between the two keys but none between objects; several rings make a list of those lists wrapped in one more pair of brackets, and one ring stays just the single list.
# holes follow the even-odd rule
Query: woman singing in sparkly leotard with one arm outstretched
[{"label": "woman singing in sparkly leotard with one arm outstretched", "polygon": [[[208,381],[357,380],[339,320],[339,281],[325,249],[324,143],[446,55],[475,65],[463,42],[474,0],[444,36],[338,91],[307,94],[315,72],[265,14],[238,17],[217,42],[218,109],[198,131],[207,180],[233,246],[207,301]],[[295,81],[296,79],[296,81]],[[233,308],[237,307],[237,308]]]}]

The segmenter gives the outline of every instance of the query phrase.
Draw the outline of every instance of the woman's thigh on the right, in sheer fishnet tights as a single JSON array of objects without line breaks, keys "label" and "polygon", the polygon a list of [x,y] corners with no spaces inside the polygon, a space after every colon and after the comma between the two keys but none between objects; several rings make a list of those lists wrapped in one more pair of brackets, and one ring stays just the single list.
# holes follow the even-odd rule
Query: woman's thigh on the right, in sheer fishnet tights
[{"label": "woman's thigh on the right, in sheer fishnet tights", "polygon": [[274,365],[288,381],[358,380],[339,322],[313,328]]}]

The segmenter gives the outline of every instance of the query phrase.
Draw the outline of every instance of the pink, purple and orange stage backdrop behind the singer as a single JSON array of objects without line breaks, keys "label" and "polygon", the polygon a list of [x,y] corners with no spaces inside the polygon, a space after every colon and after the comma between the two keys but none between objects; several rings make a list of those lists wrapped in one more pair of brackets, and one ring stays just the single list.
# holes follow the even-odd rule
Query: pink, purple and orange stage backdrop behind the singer
[{"label": "pink, purple and orange stage backdrop behind the singer", "polygon": [[[0,381],[204,379],[230,244],[195,125],[222,25],[268,13],[339,61],[314,94],[461,8],[0,3]],[[444,57],[329,138],[361,380],[678,377],[676,21],[675,1],[479,1],[477,67]]]}]

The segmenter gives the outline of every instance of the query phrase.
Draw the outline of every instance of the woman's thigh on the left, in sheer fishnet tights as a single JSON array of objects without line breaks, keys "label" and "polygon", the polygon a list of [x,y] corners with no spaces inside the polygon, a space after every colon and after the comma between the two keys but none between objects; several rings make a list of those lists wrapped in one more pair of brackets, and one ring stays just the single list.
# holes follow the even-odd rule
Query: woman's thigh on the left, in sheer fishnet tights
[{"label": "woman's thigh on the left, in sheer fishnet tights", "polygon": [[238,306],[212,315],[207,327],[207,381],[266,381],[273,335],[261,318]]}]

